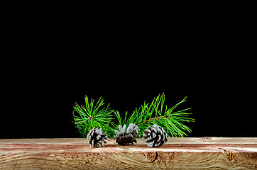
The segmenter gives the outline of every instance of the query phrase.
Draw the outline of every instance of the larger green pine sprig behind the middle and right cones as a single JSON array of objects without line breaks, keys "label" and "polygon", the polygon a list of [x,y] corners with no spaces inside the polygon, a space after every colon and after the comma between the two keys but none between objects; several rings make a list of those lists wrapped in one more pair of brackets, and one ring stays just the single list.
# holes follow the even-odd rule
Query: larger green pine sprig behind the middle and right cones
[{"label": "larger green pine sprig behind the middle and right cones", "polygon": [[[186,101],[186,98],[183,98],[182,101],[175,104],[172,108],[164,106],[165,95],[161,94],[156,98],[153,98],[151,103],[143,103],[140,108],[136,108],[133,111],[131,116],[127,116],[127,112],[125,113],[124,120],[122,120],[121,115],[118,111],[114,112],[116,117],[119,120],[119,124],[121,125],[129,125],[130,123],[134,123],[138,125],[140,129],[139,135],[143,135],[143,130],[146,130],[148,126],[152,126],[154,124],[158,124],[167,132],[168,137],[183,137],[187,135],[185,131],[191,132],[190,128],[181,122],[194,122],[193,118],[188,118],[188,115],[192,113],[186,113],[185,111],[191,109],[186,108],[181,111],[174,111],[180,103]],[[114,123],[112,123],[114,125]],[[117,125],[114,125],[117,128]]]}]

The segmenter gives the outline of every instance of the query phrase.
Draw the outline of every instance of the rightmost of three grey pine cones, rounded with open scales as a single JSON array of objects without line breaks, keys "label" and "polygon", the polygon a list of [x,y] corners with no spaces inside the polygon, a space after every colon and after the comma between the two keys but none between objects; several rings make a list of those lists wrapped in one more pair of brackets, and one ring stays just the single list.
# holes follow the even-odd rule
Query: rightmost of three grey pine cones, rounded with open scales
[{"label": "rightmost of three grey pine cones, rounded with open scales", "polygon": [[167,142],[167,134],[163,128],[155,124],[153,127],[148,126],[143,132],[142,140],[147,143],[148,147],[160,147]]}]

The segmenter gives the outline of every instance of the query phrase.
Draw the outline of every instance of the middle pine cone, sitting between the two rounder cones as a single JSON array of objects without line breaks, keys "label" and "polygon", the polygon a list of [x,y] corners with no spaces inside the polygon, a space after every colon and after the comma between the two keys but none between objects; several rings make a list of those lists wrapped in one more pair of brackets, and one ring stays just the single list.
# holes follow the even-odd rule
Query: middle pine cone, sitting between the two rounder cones
[{"label": "middle pine cone, sitting between the two rounder cones", "polygon": [[126,129],[126,125],[122,128],[121,125],[119,125],[119,131],[115,130],[115,136],[114,139],[116,139],[116,142],[119,145],[133,145],[133,142],[136,143],[136,139],[134,137],[139,137],[138,135],[138,126],[131,123],[128,125],[128,128]]}]

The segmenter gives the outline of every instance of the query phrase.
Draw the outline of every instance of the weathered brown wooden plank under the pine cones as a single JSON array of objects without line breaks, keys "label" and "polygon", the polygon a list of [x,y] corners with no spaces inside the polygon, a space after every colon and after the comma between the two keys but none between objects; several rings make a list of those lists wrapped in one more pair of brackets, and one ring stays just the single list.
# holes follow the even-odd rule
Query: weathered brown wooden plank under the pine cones
[{"label": "weathered brown wooden plank under the pine cones", "polygon": [[90,148],[85,139],[0,140],[0,169],[257,169],[257,138],[170,138]]}]

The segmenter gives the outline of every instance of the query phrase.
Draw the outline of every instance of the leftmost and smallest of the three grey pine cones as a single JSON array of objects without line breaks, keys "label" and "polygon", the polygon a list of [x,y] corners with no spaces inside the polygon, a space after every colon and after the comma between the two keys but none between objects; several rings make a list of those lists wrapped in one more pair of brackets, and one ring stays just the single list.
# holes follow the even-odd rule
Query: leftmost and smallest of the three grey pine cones
[{"label": "leftmost and smallest of the three grey pine cones", "polygon": [[87,141],[90,147],[92,147],[92,145],[94,147],[104,146],[103,142],[106,143],[106,140],[108,140],[107,134],[102,132],[102,128],[92,128],[87,134]]}]

